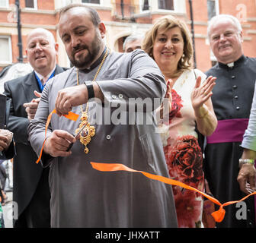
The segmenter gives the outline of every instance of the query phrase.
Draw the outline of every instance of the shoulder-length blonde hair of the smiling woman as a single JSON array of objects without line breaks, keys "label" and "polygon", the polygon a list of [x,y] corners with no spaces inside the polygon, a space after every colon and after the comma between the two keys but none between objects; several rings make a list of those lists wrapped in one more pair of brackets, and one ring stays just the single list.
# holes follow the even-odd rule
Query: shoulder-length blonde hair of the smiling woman
[{"label": "shoulder-length blonde hair of the smiling woman", "polygon": [[184,40],[184,55],[178,62],[178,71],[189,70],[193,68],[193,45],[190,37],[190,31],[188,30],[187,24],[185,24],[184,21],[181,21],[174,16],[165,15],[155,21],[155,24],[153,24],[152,28],[146,33],[146,36],[142,42],[142,49],[154,59],[153,46],[158,30],[165,31],[174,27],[178,27],[181,30],[181,34]]}]

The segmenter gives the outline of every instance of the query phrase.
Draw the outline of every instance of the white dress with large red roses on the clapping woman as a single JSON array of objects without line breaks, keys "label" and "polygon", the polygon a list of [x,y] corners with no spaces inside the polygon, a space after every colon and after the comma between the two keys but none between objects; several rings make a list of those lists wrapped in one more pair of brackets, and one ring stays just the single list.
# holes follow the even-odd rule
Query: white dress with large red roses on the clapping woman
[{"label": "white dress with large red roses on the clapping woman", "polygon": [[[203,191],[203,156],[197,141],[196,118],[190,101],[190,93],[199,76],[203,84],[206,75],[197,69],[184,71],[176,80],[171,91],[169,121],[158,128],[170,177]],[[203,197],[178,186],[173,186],[173,192],[178,226],[202,227]]]}]

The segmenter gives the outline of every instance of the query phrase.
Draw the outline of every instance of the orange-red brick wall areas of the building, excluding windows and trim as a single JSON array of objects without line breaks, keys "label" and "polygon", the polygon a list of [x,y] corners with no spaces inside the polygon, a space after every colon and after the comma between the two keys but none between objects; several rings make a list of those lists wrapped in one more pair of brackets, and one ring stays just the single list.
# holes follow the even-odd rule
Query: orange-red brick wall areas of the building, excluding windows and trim
[{"label": "orange-red brick wall areas of the building, excluding windows and trim", "polygon": [[[9,0],[10,5],[14,5],[15,0]],[[59,17],[58,13],[55,11],[54,0],[47,1],[37,1],[37,11],[24,9],[24,0],[20,0],[21,4],[21,25],[22,25],[22,40],[23,40],[23,53],[25,55],[26,48],[26,36],[30,30],[34,27],[45,27],[47,30],[50,30],[55,37],[56,33],[56,24],[58,24]],[[111,1],[114,4],[115,8],[120,6],[120,0]],[[184,19],[187,22],[188,27],[190,28],[190,8],[188,1],[186,3],[186,13],[177,14],[178,17]],[[136,8],[139,6],[139,2],[136,0],[124,0],[124,4],[127,8],[129,5],[136,5]],[[11,36],[11,46],[12,46],[12,58],[13,62],[17,62],[18,57],[18,31],[16,23],[10,23],[7,21],[8,14],[10,14],[10,9],[0,11],[0,27],[1,24],[5,28],[0,29],[0,34],[10,35]],[[108,31],[110,28],[114,27],[114,22],[127,22],[132,26],[133,23],[129,20],[120,20],[116,16],[111,16],[111,10],[107,8],[97,8],[97,11],[101,17],[101,20],[107,23],[112,23],[108,25]],[[114,11],[113,11],[114,12]],[[117,11],[116,11],[117,12]],[[232,14],[235,17],[238,17],[241,20],[244,34],[244,43],[243,48],[245,55],[255,57],[256,56],[256,1],[255,0],[219,0],[219,13],[220,14]],[[170,12],[164,13],[170,14]],[[136,23],[152,24],[156,18],[162,17],[164,14],[155,13],[148,14],[146,16],[136,18]],[[207,5],[206,0],[194,0],[193,1],[193,14],[194,14],[194,33],[195,33],[195,51],[197,59],[197,68],[202,71],[206,71],[211,67],[210,61],[210,46],[206,41],[206,28],[207,28]],[[127,27],[128,28],[128,27]],[[132,27],[130,27],[132,29]],[[2,31],[3,30],[3,31]],[[127,30],[126,33],[129,31]],[[114,32],[113,32],[114,33]],[[120,39],[113,39],[114,36],[109,36],[109,42],[117,41],[117,47],[122,46],[120,39],[123,37],[118,37]],[[109,45],[111,46],[111,45]],[[112,45],[113,46],[113,45]],[[64,49],[61,49],[60,52],[65,52]],[[26,62],[26,59],[24,59]],[[0,70],[2,67],[0,66]]]}]

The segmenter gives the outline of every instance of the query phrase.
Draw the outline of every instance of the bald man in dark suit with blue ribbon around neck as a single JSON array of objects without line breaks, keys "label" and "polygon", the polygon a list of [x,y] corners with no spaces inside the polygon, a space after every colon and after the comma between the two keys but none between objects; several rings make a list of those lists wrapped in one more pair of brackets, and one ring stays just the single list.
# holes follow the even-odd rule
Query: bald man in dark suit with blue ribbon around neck
[{"label": "bald man in dark suit with blue ribbon around neck", "polygon": [[36,164],[37,155],[27,141],[27,126],[34,118],[40,93],[46,81],[65,71],[56,65],[59,45],[50,31],[38,28],[27,35],[27,59],[34,68],[30,74],[5,82],[5,95],[11,98],[8,129],[14,133],[13,198],[18,203],[14,228],[50,227],[49,169]]}]

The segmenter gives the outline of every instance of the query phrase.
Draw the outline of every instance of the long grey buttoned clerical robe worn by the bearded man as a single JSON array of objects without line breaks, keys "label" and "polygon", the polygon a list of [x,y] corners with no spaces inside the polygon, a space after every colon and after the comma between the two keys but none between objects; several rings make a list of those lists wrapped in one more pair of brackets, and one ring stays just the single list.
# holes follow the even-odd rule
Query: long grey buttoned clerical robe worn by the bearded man
[{"label": "long grey buttoned clerical robe worn by the bearded man", "polygon": [[[79,71],[80,83],[93,80],[97,70],[98,66],[90,71]],[[159,106],[159,103],[152,106],[148,103],[154,104],[159,98],[162,101],[165,96],[161,71],[142,50],[125,54],[111,52],[96,81],[105,102],[104,109],[98,103],[89,102],[89,121],[96,130],[88,145],[89,153],[85,154],[84,146],[77,141],[71,156],[43,155],[43,165],[50,164],[51,226],[177,227],[170,185],[139,173],[99,172],[90,164],[123,163],[133,169],[168,177],[155,122],[146,119]],[[46,118],[54,109],[58,91],[76,82],[76,71],[72,68],[46,84],[37,115],[28,128],[30,143],[37,155],[44,140]],[[130,103],[129,98],[132,98]],[[135,99],[147,100],[146,106],[132,109]],[[79,106],[73,107],[72,112],[81,115]],[[73,122],[53,115],[48,134],[56,129],[74,133],[79,122],[79,119]]]}]

